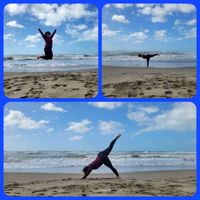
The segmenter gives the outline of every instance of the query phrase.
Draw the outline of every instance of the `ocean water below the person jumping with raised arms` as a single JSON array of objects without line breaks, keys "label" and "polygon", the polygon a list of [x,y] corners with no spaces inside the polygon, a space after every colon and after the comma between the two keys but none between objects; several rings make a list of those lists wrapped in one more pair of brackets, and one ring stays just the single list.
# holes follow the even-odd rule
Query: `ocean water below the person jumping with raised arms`
[{"label": "ocean water below the person jumping with raised arms", "polygon": [[54,55],[53,60],[35,55],[4,56],[4,72],[53,72],[97,69],[97,55]]}]

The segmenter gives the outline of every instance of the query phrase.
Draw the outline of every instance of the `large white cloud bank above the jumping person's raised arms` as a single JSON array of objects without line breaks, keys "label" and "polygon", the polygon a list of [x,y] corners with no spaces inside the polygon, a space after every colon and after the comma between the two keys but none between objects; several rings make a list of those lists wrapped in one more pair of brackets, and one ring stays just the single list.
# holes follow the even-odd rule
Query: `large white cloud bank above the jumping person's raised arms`
[{"label": "large white cloud bank above the jumping person's raised arms", "polygon": [[46,26],[57,27],[66,21],[94,17],[86,4],[9,4],[5,10],[10,15],[29,13]]}]

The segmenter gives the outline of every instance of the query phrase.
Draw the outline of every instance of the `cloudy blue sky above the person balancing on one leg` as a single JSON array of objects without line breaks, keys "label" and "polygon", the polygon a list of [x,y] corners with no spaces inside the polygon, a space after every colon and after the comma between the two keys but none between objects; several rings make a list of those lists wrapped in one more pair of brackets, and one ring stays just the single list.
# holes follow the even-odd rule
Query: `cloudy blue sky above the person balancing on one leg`
[{"label": "cloudy blue sky above the person balancing on one leg", "polygon": [[196,9],[191,4],[108,4],[103,50],[195,51]]}]

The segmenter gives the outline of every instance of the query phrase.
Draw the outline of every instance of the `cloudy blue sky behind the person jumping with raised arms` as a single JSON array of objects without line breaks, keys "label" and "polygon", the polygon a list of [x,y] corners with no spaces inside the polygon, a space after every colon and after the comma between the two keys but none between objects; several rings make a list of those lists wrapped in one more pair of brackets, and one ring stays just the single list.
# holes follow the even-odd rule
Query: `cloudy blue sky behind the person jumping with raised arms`
[{"label": "cloudy blue sky behind the person jumping with raised arms", "polygon": [[4,9],[4,53],[43,54],[38,32],[53,32],[54,53],[97,53],[97,8],[88,4],[8,4]]}]

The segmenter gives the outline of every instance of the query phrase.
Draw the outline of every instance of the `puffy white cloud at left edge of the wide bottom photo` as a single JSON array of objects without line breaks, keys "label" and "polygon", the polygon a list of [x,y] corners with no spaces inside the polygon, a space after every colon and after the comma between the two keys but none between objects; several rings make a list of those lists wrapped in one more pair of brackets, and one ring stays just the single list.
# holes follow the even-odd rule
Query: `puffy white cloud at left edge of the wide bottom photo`
[{"label": "puffy white cloud at left edge of the wide bottom photo", "polygon": [[4,125],[7,127],[18,127],[21,129],[38,129],[48,124],[49,121],[40,120],[35,121],[30,117],[25,116],[24,113],[17,110],[10,110],[8,115],[4,117]]}]

